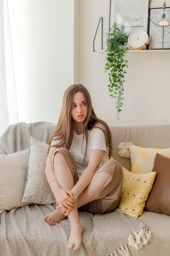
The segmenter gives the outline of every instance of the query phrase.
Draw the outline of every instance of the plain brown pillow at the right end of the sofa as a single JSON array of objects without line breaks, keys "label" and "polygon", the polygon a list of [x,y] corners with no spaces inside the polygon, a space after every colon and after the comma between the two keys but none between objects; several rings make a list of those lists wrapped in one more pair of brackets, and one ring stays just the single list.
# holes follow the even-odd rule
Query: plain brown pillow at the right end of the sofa
[{"label": "plain brown pillow at the right end of the sofa", "polygon": [[156,172],[155,181],[145,210],[170,215],[170,158],[157,153],[153,171]]}]

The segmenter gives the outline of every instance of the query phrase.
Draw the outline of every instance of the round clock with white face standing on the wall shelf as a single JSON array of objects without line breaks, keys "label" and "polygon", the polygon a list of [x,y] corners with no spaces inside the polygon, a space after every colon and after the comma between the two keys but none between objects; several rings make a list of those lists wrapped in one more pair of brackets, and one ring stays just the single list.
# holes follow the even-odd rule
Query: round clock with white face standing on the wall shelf
[{"label": "round clock with white face standing on the wall shelf", "polygon": [[135,29],[128,36],[128,44],[134,50],[142,50],[149,43],[148,33],[143,29]]}]

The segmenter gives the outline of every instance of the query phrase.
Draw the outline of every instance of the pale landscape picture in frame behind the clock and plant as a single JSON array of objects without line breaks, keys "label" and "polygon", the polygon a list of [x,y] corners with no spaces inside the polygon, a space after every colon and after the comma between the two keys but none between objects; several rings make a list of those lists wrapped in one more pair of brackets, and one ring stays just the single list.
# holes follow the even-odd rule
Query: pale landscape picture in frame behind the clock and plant
[{"label": "pale landscape picture in frame behind the clock and plant", "polygon": [[110,0],[109,27],[129,35],[135,29],[148,31],[149,0]]}]

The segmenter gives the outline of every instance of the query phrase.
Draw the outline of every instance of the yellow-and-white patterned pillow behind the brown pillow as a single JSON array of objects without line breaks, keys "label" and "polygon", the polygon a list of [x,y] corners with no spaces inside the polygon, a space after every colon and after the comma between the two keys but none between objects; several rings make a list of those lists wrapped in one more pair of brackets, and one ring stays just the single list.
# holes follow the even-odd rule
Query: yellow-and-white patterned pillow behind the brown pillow
[{"label": "yellow-and-white patterned pillow behind the brown pillow", "polygon": [[153,169],[157,153],[170,158],[170,148],[142,148],[135,145],[129,146],[131,153],[132,173],[149,173]]}]

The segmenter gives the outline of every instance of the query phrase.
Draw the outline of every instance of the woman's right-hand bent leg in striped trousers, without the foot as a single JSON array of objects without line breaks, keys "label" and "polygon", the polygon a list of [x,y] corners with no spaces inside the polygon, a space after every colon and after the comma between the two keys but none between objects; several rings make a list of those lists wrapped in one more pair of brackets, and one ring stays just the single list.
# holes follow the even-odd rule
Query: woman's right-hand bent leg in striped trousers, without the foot
[{"label": "woman's right-hand bent leg in striped trousers, without the foot", "polygon": [[[96,187],[94,178],[99,179],[101,186]],[[91,183],[77,199],[79,210],[91,213],[109,213],[114,211],[120,202],[123,185],[122,166],[116,160],[109,160],[95,173]],[[104,186],[103,186],[104,185]],[[100,189],[98,189],[100,188]],[[96,194],[95,194],[95,192]],[[95,200],[90,200],[89,194],[94,195]]]}]

